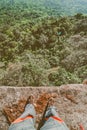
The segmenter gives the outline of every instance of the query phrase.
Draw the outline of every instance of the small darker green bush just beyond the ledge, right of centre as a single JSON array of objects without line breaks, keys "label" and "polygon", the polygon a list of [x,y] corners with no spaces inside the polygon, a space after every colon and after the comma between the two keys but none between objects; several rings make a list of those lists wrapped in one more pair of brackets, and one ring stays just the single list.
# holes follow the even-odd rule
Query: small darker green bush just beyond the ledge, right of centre
[{"label": "small darker green bush just beyond the ledge, right of centre", "polygon": [[81,82],[76,74],[67,72],[64,68],[59,68],[57,72],[51,73],[48,78],[50,84],[55,86]]}]

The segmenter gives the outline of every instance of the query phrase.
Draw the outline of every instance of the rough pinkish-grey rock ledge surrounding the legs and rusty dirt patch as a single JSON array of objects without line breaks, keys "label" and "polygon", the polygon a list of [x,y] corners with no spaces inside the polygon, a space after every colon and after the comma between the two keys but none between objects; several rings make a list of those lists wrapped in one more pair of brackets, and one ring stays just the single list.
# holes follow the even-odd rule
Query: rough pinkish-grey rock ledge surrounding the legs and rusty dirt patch
[{"label": "rough pinkish-grey rock ledge surrounding the legs and rusty dirt patch", "polygon": [[[9,124],[3,113],[7,105],[17,104],[22,98],[33,94],[37,100],[43,93],[55,93],[56,107],[60,117],[70,130],[87,130],[87,85],[69,84],[60,87],[0,87],[0,130],[8,130]],[[39,118],[39,116],[37,117]]]}]

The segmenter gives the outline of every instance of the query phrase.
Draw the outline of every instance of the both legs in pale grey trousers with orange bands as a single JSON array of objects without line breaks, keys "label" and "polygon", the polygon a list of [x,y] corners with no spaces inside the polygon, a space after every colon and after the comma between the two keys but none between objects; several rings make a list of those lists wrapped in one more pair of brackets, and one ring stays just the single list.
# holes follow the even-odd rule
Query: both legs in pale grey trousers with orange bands
[{"label": "both legs in pale grey trousers with orange bands", "polygon": [[[35,116],[34,105],[30,102],[26,105],[23,114],[10,125],[9,130],[36,130]],[[52,103],[48,105],[44,120],[40,130],[69,130],[64,121],[59,118],[56,107]]]}]

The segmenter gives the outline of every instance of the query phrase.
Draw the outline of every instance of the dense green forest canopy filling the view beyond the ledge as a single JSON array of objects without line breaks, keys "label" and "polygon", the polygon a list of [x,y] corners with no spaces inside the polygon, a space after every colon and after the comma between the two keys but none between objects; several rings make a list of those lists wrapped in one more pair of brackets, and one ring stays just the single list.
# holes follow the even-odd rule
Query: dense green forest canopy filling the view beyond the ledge
[{"label": "dense green forest canopy filling the view beyond the ledge", "polygon": [[87,78],[87,2],[80,8],[76,0],[77,12],[72,0],[66,3],[0,1],[0,85],[58,86]]}]

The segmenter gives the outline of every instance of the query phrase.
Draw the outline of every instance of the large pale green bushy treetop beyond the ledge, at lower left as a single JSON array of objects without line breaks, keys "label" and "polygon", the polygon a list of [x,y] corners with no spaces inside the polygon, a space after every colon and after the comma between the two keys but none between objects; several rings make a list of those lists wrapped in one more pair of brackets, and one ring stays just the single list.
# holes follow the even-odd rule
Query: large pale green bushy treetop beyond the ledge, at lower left
[{"label": "large pale green bushy treetop beyond the ledge, at lower left", "polygon": [[50,64],[41,55],[35,56],[27,53],[21,57],[20,61],[8,64],[2,78],[4,85],[41,86],[49,84],[45,70],[50,67]]}]

